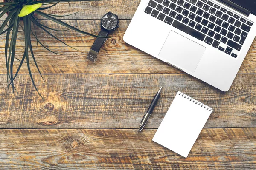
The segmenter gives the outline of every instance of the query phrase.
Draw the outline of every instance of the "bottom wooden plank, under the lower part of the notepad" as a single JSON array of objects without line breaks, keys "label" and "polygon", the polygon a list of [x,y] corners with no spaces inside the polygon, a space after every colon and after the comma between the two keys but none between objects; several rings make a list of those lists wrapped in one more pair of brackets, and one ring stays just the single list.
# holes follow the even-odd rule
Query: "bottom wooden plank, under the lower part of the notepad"
[{"label": "bottom wooden plank, under the lower part of the notepad", "polygon": [[204,129],[188,158],[156,130],[0,130],[1,169],[255,170],[256,128]]}]

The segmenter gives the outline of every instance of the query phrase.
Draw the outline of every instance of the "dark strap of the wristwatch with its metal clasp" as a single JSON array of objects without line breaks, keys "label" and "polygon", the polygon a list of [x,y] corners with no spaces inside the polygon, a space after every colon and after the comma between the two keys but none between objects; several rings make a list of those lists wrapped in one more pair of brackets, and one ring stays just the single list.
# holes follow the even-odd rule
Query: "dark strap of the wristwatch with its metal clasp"
[{"label": "dark strap of the wristwatch with its metal clasp", "polygon": [[87,59],[89,59],[92,62],[95,62],[100,48],[102,47],[104,42],[107,40],[107,38],[101,38],[101,37],[107,37],[108,34],[109,32],[107,30],[101,29],[101,31],[98,34],[98,36],[100,37],[97,37],[96,40],[94,41],[93,46],[87,55]]}]

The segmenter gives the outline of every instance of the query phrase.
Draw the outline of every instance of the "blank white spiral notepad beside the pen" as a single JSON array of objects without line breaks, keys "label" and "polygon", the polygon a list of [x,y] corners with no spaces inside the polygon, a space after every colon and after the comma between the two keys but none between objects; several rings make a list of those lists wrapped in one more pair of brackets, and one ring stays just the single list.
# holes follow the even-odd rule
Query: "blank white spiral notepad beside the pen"
[{"label": "blank white spiral notepad beside the pen", "polygon": [[178,91],[152,140],[187,157],[211,113],[212,108]]}]

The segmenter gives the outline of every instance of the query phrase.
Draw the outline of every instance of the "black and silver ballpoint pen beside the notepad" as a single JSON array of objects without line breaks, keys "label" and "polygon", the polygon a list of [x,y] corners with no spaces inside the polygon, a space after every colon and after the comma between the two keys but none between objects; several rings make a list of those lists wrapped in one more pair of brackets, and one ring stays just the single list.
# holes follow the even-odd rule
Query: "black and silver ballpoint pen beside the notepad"
[{"label": "black and silver ballpoint pen beside the notepad", "polygon": [[148,122],[149,117],[151,116],[151,113],[154,110],[154,107],[157,105],[157,101],[160,98],[160,94],[162,91],[163,86],[160,88],[160,90],[157,92],[157,94],[154,96],[154,99],[152,100],[148,111],[144,114],[141,122],[140,122],[140,128],[139,128],[139,132],[141,132],[141,130],[143,130],[144,126],[146,125],[146,123]]}]

